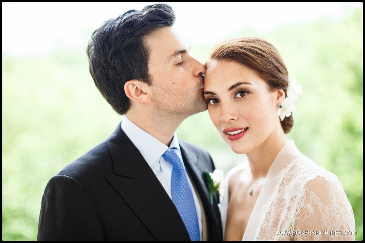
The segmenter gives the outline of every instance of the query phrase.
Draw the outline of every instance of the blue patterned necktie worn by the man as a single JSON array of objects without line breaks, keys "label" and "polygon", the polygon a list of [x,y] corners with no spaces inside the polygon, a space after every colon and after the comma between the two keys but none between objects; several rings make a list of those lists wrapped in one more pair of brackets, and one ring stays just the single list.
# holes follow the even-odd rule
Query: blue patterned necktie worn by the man
[{"label": "blue patterned necktie worn by the man", "polygon": [[168,149],[162,155],[173,165],[171,175],[171,197],[177,211],[183,219],[191,240],[200,240],[198,216],[191,187],[188,182],[183,162],[178,157],[176,148]]}]

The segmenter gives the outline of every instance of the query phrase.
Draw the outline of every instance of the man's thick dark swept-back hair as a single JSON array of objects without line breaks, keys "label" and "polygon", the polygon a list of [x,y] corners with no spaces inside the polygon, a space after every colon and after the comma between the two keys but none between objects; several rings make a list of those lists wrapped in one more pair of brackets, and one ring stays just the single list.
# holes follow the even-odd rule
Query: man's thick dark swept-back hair
[{"label": "man's thick dark swept-back hair", "polygon": [[175,13],[167,4],[157,3],[141,11],[131,9],[110,19],[95,30],[87,47],[89,69],[96,87],[119,114],[130,107],[124,92],[128,80],[151,84],[148,72],[150,50],[143,36],[165,26],[172,26]]}]

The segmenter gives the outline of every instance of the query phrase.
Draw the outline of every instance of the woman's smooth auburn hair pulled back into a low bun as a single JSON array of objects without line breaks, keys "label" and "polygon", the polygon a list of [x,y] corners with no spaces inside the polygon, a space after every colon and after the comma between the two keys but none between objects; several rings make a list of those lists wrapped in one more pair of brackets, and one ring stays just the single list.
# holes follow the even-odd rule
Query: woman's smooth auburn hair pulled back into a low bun
[{"label": "woman's smooth auburn hair pulled back into a low bun", "polygon": [[[274,92],[283,89],[285,97],[287,96],[289,84],[287,67],[276,48],[266,40],[243,37],[224,41],[213,48],[205,66],[211,60],[242,64],[256,72],[266,82],[269,90]],[[293,113],[281,121],[284,133],[291,130],[293,123]]]}]

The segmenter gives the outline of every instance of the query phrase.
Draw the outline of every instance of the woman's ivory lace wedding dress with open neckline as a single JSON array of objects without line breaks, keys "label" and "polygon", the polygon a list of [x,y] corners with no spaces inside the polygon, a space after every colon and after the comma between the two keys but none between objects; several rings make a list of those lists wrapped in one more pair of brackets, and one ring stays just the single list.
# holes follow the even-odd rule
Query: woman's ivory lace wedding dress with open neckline
[{"label": "woman's ivory lace wedding dress with open neckline", "polygon": [[[227,223],[225,179],[223,232]],[[301,154],[289,140],[277,154],[251,213],[242,240],[355,240],[354,213],[336,175]]]}]

